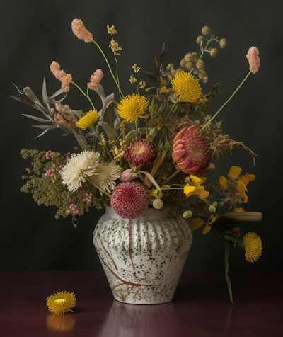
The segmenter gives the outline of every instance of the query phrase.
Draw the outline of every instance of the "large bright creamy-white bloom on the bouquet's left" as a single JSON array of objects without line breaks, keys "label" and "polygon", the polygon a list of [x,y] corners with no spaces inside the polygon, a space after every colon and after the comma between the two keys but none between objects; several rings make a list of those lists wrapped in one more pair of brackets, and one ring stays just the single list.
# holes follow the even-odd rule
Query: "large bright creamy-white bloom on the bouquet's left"
[{"label": "large bright creamy-white bloom on the bouquet's left", "polygon": [[77,190],[86,181],[86,177],[98,174],[99,157],[98,152],[92,151],[71,155],[71,159],[60,171],[62,183],[67,185],[70,192]]}]

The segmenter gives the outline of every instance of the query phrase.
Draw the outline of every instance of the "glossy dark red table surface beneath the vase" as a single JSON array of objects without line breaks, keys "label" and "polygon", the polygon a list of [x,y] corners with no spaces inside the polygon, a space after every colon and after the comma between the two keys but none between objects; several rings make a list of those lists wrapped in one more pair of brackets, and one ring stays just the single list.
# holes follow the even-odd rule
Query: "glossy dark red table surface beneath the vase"
[{"label": "glossy dark red table surface beneath the vase", "polygon": [[[122,304],[102,271],[1,271],[1,337],[283,336],[282,273],[185,271],[173,302]],[[46,297],[76,294],[74,312],[54,315]]]}]

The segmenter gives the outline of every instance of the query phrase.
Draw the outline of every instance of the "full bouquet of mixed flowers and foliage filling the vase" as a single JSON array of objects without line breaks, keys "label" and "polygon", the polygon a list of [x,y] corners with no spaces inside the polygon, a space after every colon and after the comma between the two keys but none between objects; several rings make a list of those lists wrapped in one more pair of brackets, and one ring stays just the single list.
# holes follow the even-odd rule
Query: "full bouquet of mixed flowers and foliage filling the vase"
[{"label": "full bouquet of mixed flowers and foliage filling the vase", "polygon": [[[25,115],[40,122],[34,125],[43,130],[38,137],[59,128],[64,135],[73,135],[79,145],[66,154],[23,149],[21,155],[30,159],[31,165],[23,176],[21,191],[32,193],[38,205],[57,207],[55,217],[71,216],[74,224],[93,207],[111,206],[127,219],[138,217],[148,207],[170,207],[187,218],[192,230],[202,229],[203,234],[212,232],[224,238],[231,296],[227,275],[231,244],[243,248],[250,262],[262,254],[260,237],[240,231],[241,222],[261,219],[260,212],[246,212],[242,207],[248,202],[247,185],[255,176],[242,173],[236,165],[214,182],[209,181],[209,173],[217,169],[216,161],[222,154],[236,148],[246,150],[255,160],[251,149],[223,132],[216,117],[248,76],[258,72],[258,48],[250,47],[246,55],[248,74],[211,115],[209,105],[220,90],[216,84],[204,93],[202,86],[209,81],[204,58],[216,57],[227,42],[209,27],[202,28],[197,50],[187,52],[178,67],[163,67],[164,45],[155,59],[155,72],[134,64],[129,78],[133,91],[128,94],[120,84],[118,58],[122,47],[114,39],[115,26],[107,26],[112,62],[81,20],[74,19],[71,28],[77,38],[94,44],[101,52],[118,98],[113,93],[105,95],[102,69],[93,72],[83,88],[55,61],[50,70],[62,84],[58,91],[49,96],[44,80],[40,101],[30,88],[18,89],[29,100],[12,97],[43,114]],[[88,111],[64,103],[73,90],[86,98]],[[99,106],[93,103],[96,95]]]}]

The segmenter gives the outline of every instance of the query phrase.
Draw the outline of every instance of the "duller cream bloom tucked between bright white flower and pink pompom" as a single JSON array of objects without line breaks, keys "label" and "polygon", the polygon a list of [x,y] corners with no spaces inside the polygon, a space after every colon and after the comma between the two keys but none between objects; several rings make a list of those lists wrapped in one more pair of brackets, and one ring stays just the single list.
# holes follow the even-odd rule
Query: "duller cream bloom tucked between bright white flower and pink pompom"
[{"label": "duller cream bloom tucked between bright white flower and pink pompom", "polygon": [[115,188],[115,181],[120,178],[121,167],[115,161],[98,165],[98,174],[91,177],[91,181],[99,188],[99,192],[111,193]]}]

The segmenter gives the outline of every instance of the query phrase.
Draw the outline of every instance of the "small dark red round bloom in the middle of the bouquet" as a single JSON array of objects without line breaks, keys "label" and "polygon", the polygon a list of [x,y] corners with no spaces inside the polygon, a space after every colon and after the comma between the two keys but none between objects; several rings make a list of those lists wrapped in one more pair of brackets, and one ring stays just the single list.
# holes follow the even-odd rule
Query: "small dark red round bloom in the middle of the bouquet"
[{"label": "small dark red round bloom in the middle of the bouquet", "polygon": [[134,139],[125,147],[124,158],[130,166],[148,166],[156,158],[154,144],[146,139]]}]

